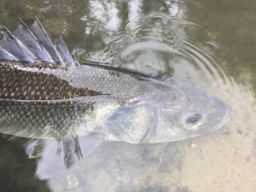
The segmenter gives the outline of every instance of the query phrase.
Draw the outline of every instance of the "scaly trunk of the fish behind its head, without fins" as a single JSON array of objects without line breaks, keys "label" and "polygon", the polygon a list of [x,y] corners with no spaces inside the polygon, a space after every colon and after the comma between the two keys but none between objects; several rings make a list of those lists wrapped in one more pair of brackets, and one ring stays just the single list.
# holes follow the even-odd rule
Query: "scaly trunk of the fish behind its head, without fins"
[{"label": "scaly trunk of the fish behind its head, without fins", "polygon": [[[7,86],[2,88],[3,95],[7,96],[3,96],[0,101],[2,105],[0,130],[2,133],[20,137],[57,139],[68,136],[70,129],[76,135],[84,136],[94,132],[94,129],[101,128],[101,132],[111,138],[112,134],[108,133],[109,130],[103,129],[104,120],[111,117],[116,110],[129,104],[131,98],[154,93],[151,83],[155,82],[152,79],[114,68],[110,71],[109,68],[83,65],[63,70],[61,67],[52,69],[47,66],[38,68],[38,66],[15,66],[13,63],[3,63],[0,69],[5,68],[8,68],[8,71],[4,70],[2,73],[1,84],[11,85],[12,88],[8,89]],[[34,76],[40,81],[37,79],[33,81]],[[26,79],[32,79],[32,82],[28,83]],[[124,79],[129,83],[122,83]],[[68,86],[62,86],[63,81],[68,82]],[[115,82],[120,84],[111,89]],[[50,91],[46,95],[34,94],[45,90]],[[80,90],[87,90],[86,94],[79,92]],[[67,94],[72,91],[75,92],[74,95]],[[23,95],[25,99],[13,98],[17,95]],[[61,99],[58,98],[60,95]],[[40,100],[38,97],[45,100]],[[54,99],[46,100],[49,97]],[[49,131],[46,131],[47,129]]]}]

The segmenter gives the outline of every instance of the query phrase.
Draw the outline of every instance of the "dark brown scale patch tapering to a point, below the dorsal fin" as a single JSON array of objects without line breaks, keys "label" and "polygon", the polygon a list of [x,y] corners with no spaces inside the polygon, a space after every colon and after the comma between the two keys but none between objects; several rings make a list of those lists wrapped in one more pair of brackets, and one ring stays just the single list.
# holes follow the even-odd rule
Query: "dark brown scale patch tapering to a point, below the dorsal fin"
[{"label": "dark brown scale patch tapering to a point, below the dorsal fin", "polygon": [[[31,65],[22,67],[26,69]],[[43,67],[47,66],[36,66],[37,69]],[[0,63],[0,90],[1,98],[17,100],[54,100],[102,95],[101,92],[87,88],[74,88],[65,79],[52,74],[18,70],[12,63]]]}]

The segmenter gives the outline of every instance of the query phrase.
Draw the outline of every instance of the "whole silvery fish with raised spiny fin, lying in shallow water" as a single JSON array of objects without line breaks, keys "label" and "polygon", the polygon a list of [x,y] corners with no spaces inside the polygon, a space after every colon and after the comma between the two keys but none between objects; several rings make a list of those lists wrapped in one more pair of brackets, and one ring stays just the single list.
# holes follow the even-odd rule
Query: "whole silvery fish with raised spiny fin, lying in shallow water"
[{"label": "whole silvery fish with raised spiny fin, lying in shallow water", "polygon": [[220,129],[230,107],[188,83],[80,63],[37,17],[0,40],[0,133],[33,140],[36,175],[55,176],[103,141],[173,142]]}]

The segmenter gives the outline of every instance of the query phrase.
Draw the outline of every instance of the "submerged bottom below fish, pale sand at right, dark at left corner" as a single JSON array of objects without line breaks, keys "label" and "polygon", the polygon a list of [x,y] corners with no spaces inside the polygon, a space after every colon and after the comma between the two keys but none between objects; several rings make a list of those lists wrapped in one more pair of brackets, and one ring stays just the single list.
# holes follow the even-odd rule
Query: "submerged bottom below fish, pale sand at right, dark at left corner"
[{"label": "submerged bottom below fish, pale sand at right, dark at left corner", "polygon": [[33,177],[36,159],[27,159],[20,142],[1,139],[0,191],[253,192],[255,101],[248,90],[228,87],[216,95],[232,109],[231,121],[220,130],[173,143],[103,142],[48,181]]}]

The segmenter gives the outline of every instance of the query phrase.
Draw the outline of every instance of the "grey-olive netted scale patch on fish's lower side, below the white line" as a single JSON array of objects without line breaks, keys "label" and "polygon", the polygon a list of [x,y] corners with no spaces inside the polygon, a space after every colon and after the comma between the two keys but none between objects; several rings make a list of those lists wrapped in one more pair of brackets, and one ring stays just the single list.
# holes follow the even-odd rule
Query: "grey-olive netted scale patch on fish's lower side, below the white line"
[{"label": "grey-olive netted scale patch on fish's lower side, below the white line", "polygon": [[[21,137],[45,139],[65,136],[74,122],[75,124],[83,123],[81,114],[90,115],[93,109],[92,103],[8,101],[0,101],[0,108],[2,132],[16,133]],[[46,126],[50,127],[47,136],[45,136]]]}]

